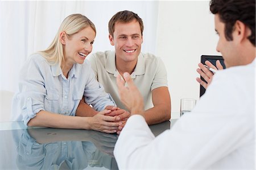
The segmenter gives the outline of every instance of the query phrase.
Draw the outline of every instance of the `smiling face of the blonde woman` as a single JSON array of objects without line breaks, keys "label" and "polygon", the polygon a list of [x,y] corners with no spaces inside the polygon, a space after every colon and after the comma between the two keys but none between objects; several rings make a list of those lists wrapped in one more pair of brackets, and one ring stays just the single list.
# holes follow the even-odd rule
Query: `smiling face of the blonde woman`
[{"label": "smiling face of the blonde woman", "polygon": [[84,63],[85,57],[92,52],[95,36],[96,34],[91,27],[86,27],[72,36],[65,35],[63,44],[65,62]]}]

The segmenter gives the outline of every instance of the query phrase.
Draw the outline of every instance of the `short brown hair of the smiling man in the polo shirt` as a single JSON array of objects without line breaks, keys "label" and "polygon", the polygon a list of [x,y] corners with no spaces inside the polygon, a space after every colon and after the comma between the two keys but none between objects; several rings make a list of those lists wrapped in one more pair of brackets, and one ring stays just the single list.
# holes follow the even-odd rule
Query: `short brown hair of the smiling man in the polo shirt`
[{"label": "short brown hair of the smiling man in the polo shirt", "polygon": [[[141,27],[141,35],[144,29],[142,19],[139,18],[138,14],[135,14],[131,11],[119,11],[117,14],[112,16],[112,18],[109,20],[109,34],[113,36],[115,31],[115,23],[130,23],[133,20],[137,20],[139,22],[139,26]],[[113,36],[114,37],[114,36]]]}]

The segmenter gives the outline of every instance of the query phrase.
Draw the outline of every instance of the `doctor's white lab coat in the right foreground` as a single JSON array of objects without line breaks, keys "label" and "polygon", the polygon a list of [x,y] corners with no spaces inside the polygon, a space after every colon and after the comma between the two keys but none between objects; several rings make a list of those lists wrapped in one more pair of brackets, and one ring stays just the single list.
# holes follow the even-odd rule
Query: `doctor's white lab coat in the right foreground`
[{"label": "doctor's white lab coat in the right foreground", "polygon": [[217,72],[195,109],[156,138],[131,116],[114,156],[119,169],[254,169],[255,60]]}]

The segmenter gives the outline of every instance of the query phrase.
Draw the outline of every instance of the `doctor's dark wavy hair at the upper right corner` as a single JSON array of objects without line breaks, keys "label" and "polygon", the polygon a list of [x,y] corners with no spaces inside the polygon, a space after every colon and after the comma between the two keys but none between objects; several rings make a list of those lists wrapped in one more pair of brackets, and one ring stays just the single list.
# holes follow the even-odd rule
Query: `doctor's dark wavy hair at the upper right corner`
[{"label": "doctor's dark wavy hair at the upper right corner", "polygon": [[251,35],[247,39],[255,46],[255,0],[212,0],[210,11],[218,14],[221,22],[225,24],[227,40],[233,40],[234,24],[240,20],[250,28]]}]

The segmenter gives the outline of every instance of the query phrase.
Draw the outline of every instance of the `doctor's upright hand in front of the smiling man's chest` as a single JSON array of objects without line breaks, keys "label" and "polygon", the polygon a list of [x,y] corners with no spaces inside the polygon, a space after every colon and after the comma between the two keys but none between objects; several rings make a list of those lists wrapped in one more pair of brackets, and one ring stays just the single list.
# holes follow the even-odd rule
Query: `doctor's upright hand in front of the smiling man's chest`
[{"label": "doctor's upright hand in front of the smiling man's chest", "polygon": [[[134,85],[134,82],[131,80],[129,73],[123,73],[123,77],[125,80],[123,80],[120,75],[117,76],[118,93],[122,103],[130,111],[131,115],[144,115],[144,103],[141,93]],[[125,86],[125,81],[128,85],[127,87]]]}]

